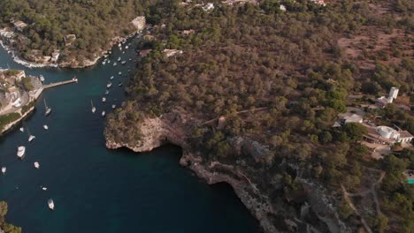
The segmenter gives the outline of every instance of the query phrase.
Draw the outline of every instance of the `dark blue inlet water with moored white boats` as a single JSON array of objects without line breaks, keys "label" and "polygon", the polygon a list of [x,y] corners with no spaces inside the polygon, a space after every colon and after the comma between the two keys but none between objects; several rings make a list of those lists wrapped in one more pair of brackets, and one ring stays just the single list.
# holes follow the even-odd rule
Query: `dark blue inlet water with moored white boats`
[{"label": "dark blue inlet water with moored white boats", "polygon": [[[133,41],[135,42],[135,41]],[[131,47],[131,46],[130,46]],[[134,46],[132,46],[134,47]],[[58,86],[43,92],[34,115],[23,123],[36,136],[14,130],[0,138],[0,199],[9,204],[7,220],[24,232],[256,232],[257,222],[242,206],[231,187],[209,186],[179,166],[180,148],[161,147],[134,154],[126,149],[107,150],[103,139],[101,110],[124,99],[117,84],[126,80],[125,65],[112,66],[122,56],[134,57],[133,49],[121,54],[113,49],[111,64],[83,70],[28,69],[12,61],[0,49],[0,66],[43,74],[46,83],[79,78],[79,84]],[[101,101],[106,83],[115,76],[111,94]],[[52,114],[43,116],[46,98]],[[97,111],[91,113],[90,100]],[[117,99],[117,101],[114,101]],[[42,124],[50,129],[45,132]],[[18,146],[26,146],[23,161]],[[40,169],[33,163],[40,162]],[[40,186],[48,187],[42,191]],[[47,200],[54,199],[50,211]]]}]

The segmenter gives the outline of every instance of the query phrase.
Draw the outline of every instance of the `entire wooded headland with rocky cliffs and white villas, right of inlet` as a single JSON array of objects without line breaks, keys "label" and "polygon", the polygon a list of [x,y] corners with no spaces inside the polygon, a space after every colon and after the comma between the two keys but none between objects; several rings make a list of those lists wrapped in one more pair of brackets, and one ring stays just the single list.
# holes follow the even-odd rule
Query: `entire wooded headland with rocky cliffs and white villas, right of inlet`
[{"label": "entire wooded headland with rocky cliffs and white villas, right of inlet", "polygon": [[410,232],[413,9],[397,2],[157,3],[106,146],[182,147],[265,232]]}]

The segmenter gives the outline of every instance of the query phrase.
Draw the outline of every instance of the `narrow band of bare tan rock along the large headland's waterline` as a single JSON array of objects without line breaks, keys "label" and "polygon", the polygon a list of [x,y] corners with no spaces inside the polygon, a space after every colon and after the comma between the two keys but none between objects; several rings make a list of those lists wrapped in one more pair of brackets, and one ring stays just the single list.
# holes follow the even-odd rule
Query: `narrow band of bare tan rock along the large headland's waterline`
[{"label": "narrow band of bare tan rock along the large headland's waterline", "polygon": [[106,147],[127,147],[134,152],[150,151],[165,143],[172,143],[182,148],[180,164],[194,171],[197,177],[203,178],[208,184],[225,182],[230,184],[242,203],[248,207],[265,232],[278,232],[272,224],[270,216],[275,214],[270,199],[257,190],[255,184],[251,183],[242,171],[233,166],[211,162],[206,164],[200,152],[188,145],[188,129],[190,124],[197,124],[194,119],[188,118],[177,112],[165,114],[157,118],[146,118],[138,127],[141,129],[142,137],[135,142],[119,142],[111,140],[111,135],[105,134]]}]

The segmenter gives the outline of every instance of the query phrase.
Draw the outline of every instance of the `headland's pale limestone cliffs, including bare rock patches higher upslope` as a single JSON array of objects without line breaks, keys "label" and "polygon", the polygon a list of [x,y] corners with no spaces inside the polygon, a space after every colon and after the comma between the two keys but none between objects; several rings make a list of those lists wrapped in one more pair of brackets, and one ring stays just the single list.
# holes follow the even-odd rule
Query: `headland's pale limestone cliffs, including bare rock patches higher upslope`
[{"label": "headland's pale limestone cliffs, including bare rock patches higher upslope", "polygon": [[[191,147],[188,143],[188,136],[192,125],[198,124],[196,119],[190,118],[179,112],[171,112],[163,116],[155,118],[145,118],[141,123],[135,124],[134,129],[125,127],[117,131],[118,137],[111,135],[111,131],[105,131],[106,147],[119,148],[127,147],[134,152],[146,152],[154,148],[160,147],[165,143],[172,143],[182,148],[182,157],[180,164],[188,167],[203,178],[208,184],[216,184],[225,182],[230,184],[242,203],[249,209],[262,229],[267,233],[279,232],[281,229],[288,232],[352,232],[338,217],[332,202],[328,201],[325,193],[320,191],[311,182],[306,179],[300,179],[307,195],[310,199],[310,209],[313,214],[317,215],[320,222],[316,223],[316,227],[303,221],[303,218],[295,212],[293,207],[280,206],[283,205],[281,199],[270,199],[265,191],[257,188],[257,184],[251,180],[260,180],[261,177],[249,177],[246,171],[243,171],[237,165],[228,165],[220,162],[207,162],[203,160],[201,155],[203,152],[198,148]],[[140,139],[127,137],[132,131],[141,131]],[[119,135],[120,133],[120,135]],[[126,134],[126,135],[124,135]],[[124,141],[118,141],[115,138],[122,138]],[[232,147],[238,152],[243,151],[249,153],[255,160],[260,161],[263,154],[269,151],[266,147],[259,143],[237,137],[230,139]],[[276,203],[280,203],[276,205]],[[307,206],[306,204],[305,206]],[[309,209],[309,207],[307,207]],[[277,217],[281,217],[282,221],[275,221]]]}]

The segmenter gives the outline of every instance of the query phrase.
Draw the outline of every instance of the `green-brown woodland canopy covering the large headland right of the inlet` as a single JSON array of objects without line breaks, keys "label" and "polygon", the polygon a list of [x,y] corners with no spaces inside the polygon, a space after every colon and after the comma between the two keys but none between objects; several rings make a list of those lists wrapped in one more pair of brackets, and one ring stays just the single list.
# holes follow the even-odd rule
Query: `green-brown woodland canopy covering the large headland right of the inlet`
[{"label": "green-brown woodland canopy covering the large headland right of the inlet", "polygon": [[[340,184],[355,191],[366,168],[382,169],[387,172],[380,192],[384,214],[372,214],[370,225],[379,232],[412,232],[414,188],[402,174],[414,163],[412,151],[367,161],[369,150],[358,142],[364,126],[331,126],[349,105],[349,94],[385,94],[391,86],[410,94],[414,60],[412,51],[402,48],[412,46],[414,5],[409,0],[330,1],[326,7],[281,2],[287,12],[275,0],[220,4],[213,11],[176,1],[149,7],[146,16],[155,25],[150,34],[156,39],[143,40],[139,49],[152,51],[137,64],[127,89],[130,101],[109,116],[107,132],[115,140],[134,142],[140,137],[137,121],[180,109],[200,120],[192,141],[203,148],[206,161],[246,164],[242,169],[260,177],[255,182],[271,196],[280,193],[272,186],[280,182],[282,192],[301,189],[295,174],[278,169],[282,161],[295,163],[304,177],[333,192],[341,190]],[[387,9],[383,15],[376,11],[380,6]],[[392,46],[383,49],[357,44],[363,50],[357,58],[347,56],[337,42],[372,28],[385,34],[394,28],[403,36],[395,36]],[[182,34],[190,29],[196,33]],[[181,49],[183,55],[166,57],[163,49]],[[361,61],[371,61],[373,68]],[[244,110],[249,111],[239,114]],[[414,117],[394,105],[373,114],[414,133]],[[222,130],[202,124],[219,116],[226,116]],[[230,143],[236,136],[257,140],[270,152],[259,161],[236,154]],[[356,220],[343,202],[340,210],[344,220]]]}]

